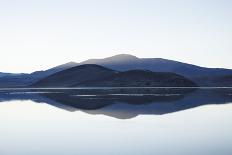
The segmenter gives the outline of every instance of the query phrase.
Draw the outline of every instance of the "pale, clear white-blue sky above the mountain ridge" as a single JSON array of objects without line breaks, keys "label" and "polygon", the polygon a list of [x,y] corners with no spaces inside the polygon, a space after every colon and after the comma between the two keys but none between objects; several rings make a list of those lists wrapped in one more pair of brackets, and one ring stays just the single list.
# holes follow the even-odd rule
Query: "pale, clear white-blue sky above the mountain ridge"
[{"label": "pale, clear white-blue sky above the mountain ridge", "polygon": [[232,1],[0,0],[0,72],[121,53],[232,69]]}]

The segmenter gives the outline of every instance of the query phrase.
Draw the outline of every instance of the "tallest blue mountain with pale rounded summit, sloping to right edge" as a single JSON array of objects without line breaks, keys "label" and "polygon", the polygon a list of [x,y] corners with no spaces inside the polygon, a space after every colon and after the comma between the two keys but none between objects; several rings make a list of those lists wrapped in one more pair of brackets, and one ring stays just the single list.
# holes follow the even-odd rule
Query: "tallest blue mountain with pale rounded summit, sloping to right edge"
[{"label": "tallest blue mountain with pale rounded summit, sloping to right edge", "polygon": [[137,58],[120,54],[105,59],[90,59],[81,64],[98,64],[118,71],[143,69],[154,72],[173,72],[193,80],[200,86],[232,86],[231,78],[222,83],[218,82],[221,77],[232,75],[230,69],[206,68],[162,58]]}]

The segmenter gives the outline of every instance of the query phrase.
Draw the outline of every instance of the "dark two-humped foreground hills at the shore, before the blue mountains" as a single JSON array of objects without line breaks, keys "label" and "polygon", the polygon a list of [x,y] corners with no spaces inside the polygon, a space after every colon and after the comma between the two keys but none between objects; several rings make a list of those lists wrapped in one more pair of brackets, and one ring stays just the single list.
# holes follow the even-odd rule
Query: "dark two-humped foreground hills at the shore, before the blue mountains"
[{"label": "dark two-humped foreground hills at the shore, before the blue mountains", "polygon": [[196,87],[175,73],[147,70],[114,71],[99,65],[80,65],[52,74],[33,87]]}]

